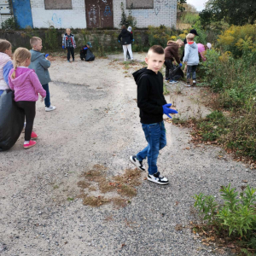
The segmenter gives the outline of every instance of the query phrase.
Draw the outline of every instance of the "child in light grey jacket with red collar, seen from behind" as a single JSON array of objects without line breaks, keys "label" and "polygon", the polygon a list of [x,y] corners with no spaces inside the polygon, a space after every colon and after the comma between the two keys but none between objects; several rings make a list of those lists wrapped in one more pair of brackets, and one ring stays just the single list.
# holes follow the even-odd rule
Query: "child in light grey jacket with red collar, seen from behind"
[{"label": "child in light grey jacket with red collar, seen from behind", "polygon": [[199,63],[199,55],[198,55],[198,47],[197,44],[194,42],[195,35],[189,33],[187,35],[187,42],[185,46],[185,55],[183,57],[183,63],[187,63],[187,86],[190,87],[190,78],[192,76],[193,84],[196,84],[196,67]]}]

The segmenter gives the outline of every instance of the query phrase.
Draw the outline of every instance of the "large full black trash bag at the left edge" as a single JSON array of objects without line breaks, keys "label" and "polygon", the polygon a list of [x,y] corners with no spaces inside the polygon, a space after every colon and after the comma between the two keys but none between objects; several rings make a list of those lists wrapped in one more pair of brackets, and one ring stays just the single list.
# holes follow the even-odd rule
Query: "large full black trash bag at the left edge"
[{"label": "large full black trash bag at the left edge", "polygon": [[23,129],[25,113],[14,101],[14,92],[5,90],[0,96],[0,151],[12,148]]}]

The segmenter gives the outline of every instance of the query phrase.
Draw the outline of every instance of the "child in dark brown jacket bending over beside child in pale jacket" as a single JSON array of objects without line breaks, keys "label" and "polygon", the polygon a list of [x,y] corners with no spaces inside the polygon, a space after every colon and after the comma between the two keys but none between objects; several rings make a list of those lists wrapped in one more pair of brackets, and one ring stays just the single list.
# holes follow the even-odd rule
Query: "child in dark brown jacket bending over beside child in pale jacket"
[{"label": "child in dark brown jacket bending over beside child in pale jacket", "polygon": [[170,79],[170,84],[177,83],[173,79],[173,70],[175,69],[175,65],[172,63],[174,60],[179,64],[180,67],[183,66],[178,56],[178,49],[183,46],[183,41],[181,39],[177,39],[176,42],[170,40],[167,42],[167,46],[165,48],[165,66],[166,66],[166,81]]}]

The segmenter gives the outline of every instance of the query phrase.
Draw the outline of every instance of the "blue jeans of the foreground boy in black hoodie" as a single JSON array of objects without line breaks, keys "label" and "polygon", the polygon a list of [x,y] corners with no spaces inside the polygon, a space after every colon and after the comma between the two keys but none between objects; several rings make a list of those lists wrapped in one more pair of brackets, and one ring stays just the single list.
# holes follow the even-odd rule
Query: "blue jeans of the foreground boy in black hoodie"
[{"label": "blue jeans of the foreground boy in black hoodie", "polygon": [[154,174],[157,171],[157,158],[159,151],[166,147],[166,128],[164,122],[143,125],[148,146],[137,154],[137,160],[142,161],[148,157],[148,173]]}]

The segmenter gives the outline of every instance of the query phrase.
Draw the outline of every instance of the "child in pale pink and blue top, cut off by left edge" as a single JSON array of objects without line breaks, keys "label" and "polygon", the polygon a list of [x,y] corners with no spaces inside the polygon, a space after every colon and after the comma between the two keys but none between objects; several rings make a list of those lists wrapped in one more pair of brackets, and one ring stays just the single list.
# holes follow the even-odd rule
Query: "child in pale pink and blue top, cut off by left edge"
[{"label": "child in pale pink and blue top, cut off by left edge", "polygon": [[7,40],[0,39],[0,96],[4,90],[9,90],[8,76],[14,67],[11,59],[12,45]]}]

